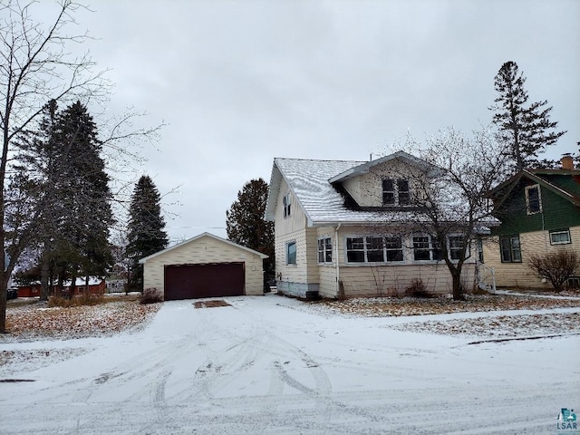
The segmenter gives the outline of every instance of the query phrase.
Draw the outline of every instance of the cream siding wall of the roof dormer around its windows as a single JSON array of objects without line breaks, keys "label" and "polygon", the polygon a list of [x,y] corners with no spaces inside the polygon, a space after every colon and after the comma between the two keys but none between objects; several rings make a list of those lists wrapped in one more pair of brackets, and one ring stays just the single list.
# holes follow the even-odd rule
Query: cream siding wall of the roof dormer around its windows
[{"label": "cream siding wall of the roof dormer around its windows", "polygon": [[409,189],[420,189],[423,174],[420,169],[401,160],[390,160],[374,166],[367,174],[362,174],[343,182],[343,187],[362,207],[382,207],[382,179],[408,179]]}]

